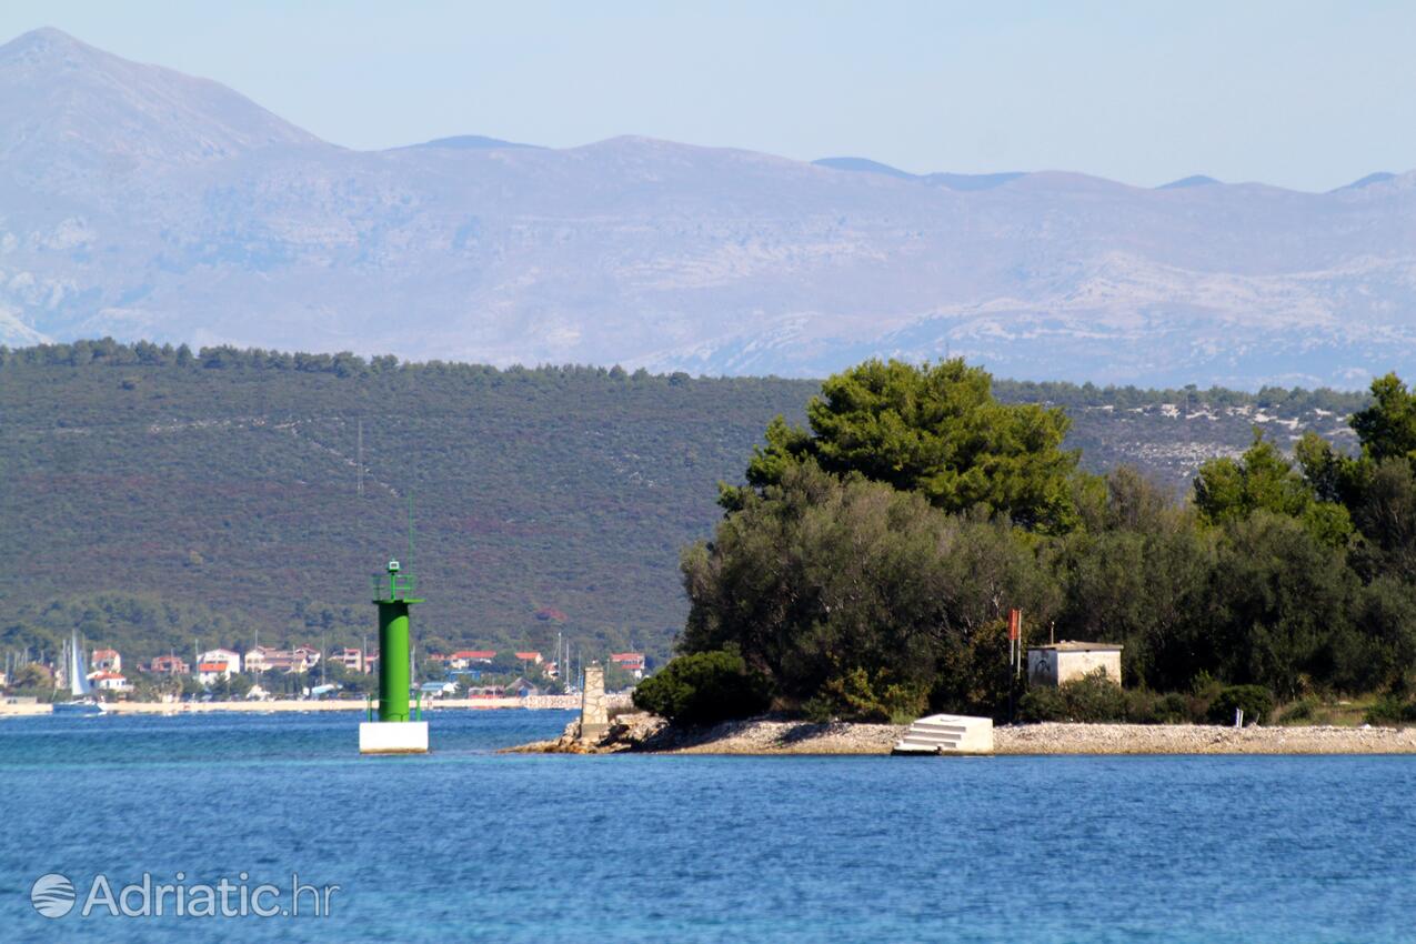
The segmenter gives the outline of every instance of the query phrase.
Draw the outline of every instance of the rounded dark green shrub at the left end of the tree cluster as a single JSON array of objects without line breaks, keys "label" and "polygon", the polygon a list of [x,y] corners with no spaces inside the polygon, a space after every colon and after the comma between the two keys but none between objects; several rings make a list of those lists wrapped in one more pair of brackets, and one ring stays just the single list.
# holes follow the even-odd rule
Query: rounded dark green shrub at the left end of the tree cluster
[{"label": "rounded dark green shrub at the left end of the tree cluster", "polygon": [[680,655],[634,688],[634,706],[681,725],[712,725],[766,710],[772,689],[742,655]]}]

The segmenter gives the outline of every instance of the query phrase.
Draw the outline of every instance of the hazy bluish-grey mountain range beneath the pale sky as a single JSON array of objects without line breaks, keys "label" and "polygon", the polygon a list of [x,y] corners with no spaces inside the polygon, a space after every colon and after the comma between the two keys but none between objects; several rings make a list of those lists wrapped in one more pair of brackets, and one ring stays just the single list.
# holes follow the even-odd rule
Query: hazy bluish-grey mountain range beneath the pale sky
[{"label": "hazy bluish-grey mountain range beneath the pale sky", "polygon": [[0,47],[0,343],[112,335],[1147,386],[1416,374],[1416,173],[1327,194],[616,137],[323,142],[58,30]]}]

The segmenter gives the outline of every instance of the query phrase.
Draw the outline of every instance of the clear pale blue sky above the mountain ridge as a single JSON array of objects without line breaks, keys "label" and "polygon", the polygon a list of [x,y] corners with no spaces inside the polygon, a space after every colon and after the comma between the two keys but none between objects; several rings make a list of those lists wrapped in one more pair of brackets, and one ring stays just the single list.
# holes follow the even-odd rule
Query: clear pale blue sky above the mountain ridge
[{"label": "clear pale blue sky above the mountain ridge", "polygon": [[1416,168],[1416,3],[0,4],[0,41],[40,25],[355,149],[646,134],[1308,191]]}]

